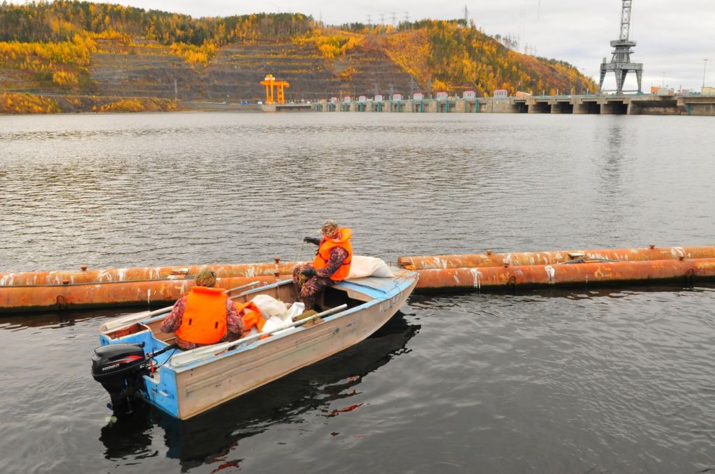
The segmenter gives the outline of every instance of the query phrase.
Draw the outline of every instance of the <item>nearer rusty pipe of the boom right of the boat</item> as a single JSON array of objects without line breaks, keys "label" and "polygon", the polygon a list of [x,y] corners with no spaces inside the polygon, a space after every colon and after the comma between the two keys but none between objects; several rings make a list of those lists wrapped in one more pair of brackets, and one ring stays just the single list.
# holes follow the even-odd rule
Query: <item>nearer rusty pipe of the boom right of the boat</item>
[{"label": "nearer rusty pipe of the boom right of the boat", "polygon": [[418,270],[417,291],[460,291],[715,279],[715,258]]}]

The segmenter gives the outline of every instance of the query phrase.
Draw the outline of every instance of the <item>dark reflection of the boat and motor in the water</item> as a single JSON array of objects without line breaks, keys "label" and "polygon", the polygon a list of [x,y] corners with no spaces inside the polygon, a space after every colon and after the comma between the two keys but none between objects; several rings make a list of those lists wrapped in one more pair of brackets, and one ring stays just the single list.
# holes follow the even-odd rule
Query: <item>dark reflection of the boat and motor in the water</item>
[{"label": "dark reflection of the boat and motor in the water", "polygon": [[188,420],[139,404],[128,418],[102,428],[105,458],[142,455],[152,445],[154,425],[159,425],[167,457],[179,459],[182,470],[215,461],[240,440],[276,423],[299,423],[304,413],[356,395],[355,386],[363,377],[404,353],[419,330],[398,312],[365,341]]}]

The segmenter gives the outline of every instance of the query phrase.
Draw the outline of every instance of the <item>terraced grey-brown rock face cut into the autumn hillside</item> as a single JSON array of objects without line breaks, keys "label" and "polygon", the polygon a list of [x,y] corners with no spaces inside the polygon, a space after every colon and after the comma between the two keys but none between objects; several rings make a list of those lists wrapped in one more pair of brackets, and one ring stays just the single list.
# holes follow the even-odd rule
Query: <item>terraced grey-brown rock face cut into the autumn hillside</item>
[{"label": "terraced grey-brown rock face cut into the autumn hillside", "polygon": [[[132,52],[129,54],[127,50]],[[288,81],[289,100],[326,99],[352,94],[387,94],[388,85],[405,90],[409,76],[379,50],[360,48],[326,59],[307,44],[256,41],[217,49],[205,65],[187,63],[167,47],[105,45],[92,55],[93,92],[103,96],[153,96],[207,101],[260,101],[260,81],[270,73]],[[352,69],[351,69],[352,68]],[[357,71],[345,74],[346,70]],[[174,89],[174,81],[176,88]]]}]

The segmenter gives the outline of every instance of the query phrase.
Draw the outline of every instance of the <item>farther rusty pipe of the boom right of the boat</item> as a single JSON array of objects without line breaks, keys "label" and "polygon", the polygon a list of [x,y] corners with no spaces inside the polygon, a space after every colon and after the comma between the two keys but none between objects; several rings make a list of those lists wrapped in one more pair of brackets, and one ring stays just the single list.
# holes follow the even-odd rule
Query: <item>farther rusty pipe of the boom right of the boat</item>
[{"label": "farther rusty pipe of the boom right of the boat", "polygon": [[410,270],[483,268],[493,266],[556,265],[574,260],[649,261],[679,258],[715,258],[715,246],[611,248],[576,251],[470,253],[464,255],[406,256],[398,265]]}]

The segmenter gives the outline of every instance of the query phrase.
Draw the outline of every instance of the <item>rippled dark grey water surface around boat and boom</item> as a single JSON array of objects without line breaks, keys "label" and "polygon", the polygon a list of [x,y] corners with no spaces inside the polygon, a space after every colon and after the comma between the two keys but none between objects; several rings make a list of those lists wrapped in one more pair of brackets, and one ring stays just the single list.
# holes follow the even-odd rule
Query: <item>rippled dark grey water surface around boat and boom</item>
[{"label": "rippled dark grey water surface around boat and boom", "polygon": [[[0,116],[0,271],[714,244],[714,122]],[[187,422],[107,423],[124,313],[0,319],[1,473],[715,472],[715,286],[413,296],[359,346]]]}]

